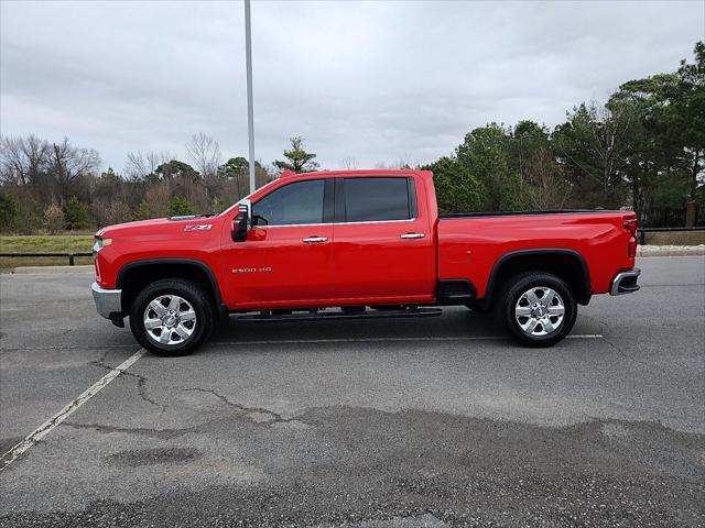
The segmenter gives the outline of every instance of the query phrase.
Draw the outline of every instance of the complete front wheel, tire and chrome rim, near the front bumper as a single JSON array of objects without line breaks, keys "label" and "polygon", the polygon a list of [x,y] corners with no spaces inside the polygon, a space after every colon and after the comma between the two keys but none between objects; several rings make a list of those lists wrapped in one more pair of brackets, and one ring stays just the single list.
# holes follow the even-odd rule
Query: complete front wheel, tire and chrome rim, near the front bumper
[{"label": "complete front wheel, tire and chrome rim, near the front bumper", "polygon": [[134,339],[156,355],[193,352],[210,334],[214,314],[207,294],[194,283],[158,280],[140,292],[130,310]]}]

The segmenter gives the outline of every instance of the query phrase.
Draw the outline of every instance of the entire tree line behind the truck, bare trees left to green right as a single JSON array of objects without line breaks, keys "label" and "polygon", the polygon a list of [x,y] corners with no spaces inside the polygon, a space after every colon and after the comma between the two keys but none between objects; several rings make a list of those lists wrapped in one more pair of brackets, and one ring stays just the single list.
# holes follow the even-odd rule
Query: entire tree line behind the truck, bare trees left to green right
[{"label": "entire tree line behind the truck, bare trees left to green right", "polygon": [[[283,160],[256,163],[258,186],[281,170],[316,170],[316,154],[295,136]],[[123,174],[100,173],[100,156],[68,139],[0,139],[3,231],[83,230],[129,220],[219,212],[249,191],[249,164],[224,162],[204,133],[186,143],[187,162],[131,152]],[[357,168],[354,157],[341,161]],[[384,164],[378,164],[384,166]],[[406,162],[393,164],[410,167]],[[550,130],[534,121],[489,123],[434,172],[442,212],[630,208],[642,224],[705,221],[705,44],[677,69],[621,85],[605,103],[583,102]],[[697,212],[699,211],[699,213]],[[686,215],[687,213],[687,215]]]}]

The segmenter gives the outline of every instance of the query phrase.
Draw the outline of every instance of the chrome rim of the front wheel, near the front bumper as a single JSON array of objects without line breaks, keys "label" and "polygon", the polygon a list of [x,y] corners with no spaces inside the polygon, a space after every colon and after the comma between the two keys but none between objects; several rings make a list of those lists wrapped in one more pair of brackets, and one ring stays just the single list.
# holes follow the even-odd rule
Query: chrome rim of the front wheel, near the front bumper
[{"label": "chrome rim of the front wheel, near the front bumper", "polygon": [[177,295],[161,295],[147,305],[144,330],[160,344],[180,344],[196,329],[196,312],[191,304]]}]

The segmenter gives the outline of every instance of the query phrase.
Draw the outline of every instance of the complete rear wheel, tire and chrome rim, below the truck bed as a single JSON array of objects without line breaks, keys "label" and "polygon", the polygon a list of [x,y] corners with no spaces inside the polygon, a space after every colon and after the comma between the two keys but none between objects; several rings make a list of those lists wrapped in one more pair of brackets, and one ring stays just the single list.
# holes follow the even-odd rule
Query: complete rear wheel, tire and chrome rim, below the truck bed
[{"label": "complete rear wheel, tire and chrome rim, below the truck bed", "polygon": [[524,346],[551,346],[573,329],[577,302],[560,277],[530,272],[509,280],[498,302],[498,311],[516,341]]}]

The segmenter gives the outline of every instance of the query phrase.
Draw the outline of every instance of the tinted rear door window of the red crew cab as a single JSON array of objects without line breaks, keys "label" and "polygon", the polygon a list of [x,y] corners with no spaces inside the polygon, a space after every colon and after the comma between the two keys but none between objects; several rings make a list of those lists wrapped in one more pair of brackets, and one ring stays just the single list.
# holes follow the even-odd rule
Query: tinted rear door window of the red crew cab
[{"label": "tinted rear door window of the red crew cab", "polygon": [[345,212],[348,222],[410,219],[408,178],[346,178]]}]

